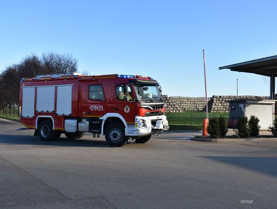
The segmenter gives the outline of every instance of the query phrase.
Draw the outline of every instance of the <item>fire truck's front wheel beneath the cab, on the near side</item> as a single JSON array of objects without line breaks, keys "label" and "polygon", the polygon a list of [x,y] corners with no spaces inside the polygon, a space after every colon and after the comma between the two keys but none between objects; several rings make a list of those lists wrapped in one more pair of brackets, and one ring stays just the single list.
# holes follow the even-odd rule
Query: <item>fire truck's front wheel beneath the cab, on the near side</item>
[{"label": "fire truck's front wheel beneath the cab, on the near side", "polygon": [[123,146],[129,139],[125,136],[125,127],[121,123],[110,124],[106,129],[105,138],[111,146]]}]

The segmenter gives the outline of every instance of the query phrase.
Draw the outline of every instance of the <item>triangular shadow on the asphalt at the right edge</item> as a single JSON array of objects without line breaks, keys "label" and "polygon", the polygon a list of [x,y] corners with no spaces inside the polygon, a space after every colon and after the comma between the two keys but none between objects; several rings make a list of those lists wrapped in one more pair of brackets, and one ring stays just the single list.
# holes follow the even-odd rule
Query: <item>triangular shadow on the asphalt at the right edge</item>
[{"label": "triangular shadow on the asphalt at the right edge", "polygon": [[259,157],[223,157],[223,156],[202,156],[214,161],[228,163],[242,168],[258,171],[267,175],[277,176],[277,158]]}]

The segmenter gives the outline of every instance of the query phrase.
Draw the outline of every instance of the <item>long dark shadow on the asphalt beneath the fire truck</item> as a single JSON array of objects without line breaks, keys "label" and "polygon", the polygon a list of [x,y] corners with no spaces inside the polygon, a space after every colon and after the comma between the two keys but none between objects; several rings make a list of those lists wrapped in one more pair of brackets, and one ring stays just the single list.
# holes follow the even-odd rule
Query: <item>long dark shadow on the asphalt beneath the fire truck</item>
[{"label": "long dark shadow on the asphalt beneath the fire truck", "polygon": [[62,137],[58,141],[41,141],[38,137],[22,136],[22,135],[0,135],[0,144],[113,148],[106,141],[67,139],[67,138],[62,138]]}]

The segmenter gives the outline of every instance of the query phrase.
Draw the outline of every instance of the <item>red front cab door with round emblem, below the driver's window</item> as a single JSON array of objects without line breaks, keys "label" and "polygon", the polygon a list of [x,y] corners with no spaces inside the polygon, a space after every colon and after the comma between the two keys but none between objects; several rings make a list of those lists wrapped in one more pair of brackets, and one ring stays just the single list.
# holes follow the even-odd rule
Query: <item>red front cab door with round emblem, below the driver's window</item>
[{"label": "red front cab door with round emblem, below the driver's window", "polygon": [[135,123],[136,102],[132,84],[116,84],[114,112],[119,113],[129,125]]}]

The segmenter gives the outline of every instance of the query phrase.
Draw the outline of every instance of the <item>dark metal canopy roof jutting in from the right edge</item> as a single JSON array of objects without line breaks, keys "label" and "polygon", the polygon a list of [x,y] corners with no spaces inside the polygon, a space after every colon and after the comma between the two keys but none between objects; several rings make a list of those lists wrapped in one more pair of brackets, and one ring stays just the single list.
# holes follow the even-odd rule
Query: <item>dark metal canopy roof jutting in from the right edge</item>
[{"label": "dark metal canopy roof jutting in from the right edge", "polygon": [[219,67],[219,69],[230,69],[231,71],[249,72],[266,75],[269,77],[275,77],[275,74],[277,75],[277,55],[233,65],[226,65],[223,67]]}]

